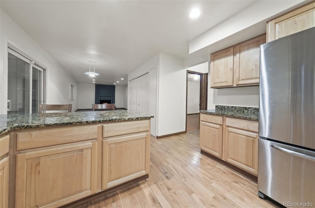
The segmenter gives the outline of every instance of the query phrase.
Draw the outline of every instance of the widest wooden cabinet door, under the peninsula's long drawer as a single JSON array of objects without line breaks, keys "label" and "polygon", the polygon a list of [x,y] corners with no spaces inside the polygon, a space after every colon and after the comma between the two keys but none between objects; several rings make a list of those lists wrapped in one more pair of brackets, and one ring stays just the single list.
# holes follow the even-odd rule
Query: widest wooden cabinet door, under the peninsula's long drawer
[{"label": "widest wooden cabinet door, under the peninsula's long drawer", "polygon": [[97,142],[17,155],[16,207],[59,207],[96,192]]}]

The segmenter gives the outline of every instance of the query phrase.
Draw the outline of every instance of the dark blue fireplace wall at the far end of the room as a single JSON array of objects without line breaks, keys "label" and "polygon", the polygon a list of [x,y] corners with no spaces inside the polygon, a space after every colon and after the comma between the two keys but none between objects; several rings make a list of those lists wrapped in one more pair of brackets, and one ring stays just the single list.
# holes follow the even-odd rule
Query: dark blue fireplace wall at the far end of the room
[{"label": "dark blue fireplace wall at the far end of the room", "polygon": [[103,103],[115,103],[115,86],[95,84],[95,104]]}]

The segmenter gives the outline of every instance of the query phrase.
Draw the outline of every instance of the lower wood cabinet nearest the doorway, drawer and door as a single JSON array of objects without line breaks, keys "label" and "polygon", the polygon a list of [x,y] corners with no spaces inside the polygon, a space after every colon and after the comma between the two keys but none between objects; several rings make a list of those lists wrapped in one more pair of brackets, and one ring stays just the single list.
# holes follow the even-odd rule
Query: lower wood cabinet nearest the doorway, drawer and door
[{"label": "lower wood cabinet nearest the doorway, drawer and door", "polygon": [[200,149],[222,158],[222,117],[200,114]]}]

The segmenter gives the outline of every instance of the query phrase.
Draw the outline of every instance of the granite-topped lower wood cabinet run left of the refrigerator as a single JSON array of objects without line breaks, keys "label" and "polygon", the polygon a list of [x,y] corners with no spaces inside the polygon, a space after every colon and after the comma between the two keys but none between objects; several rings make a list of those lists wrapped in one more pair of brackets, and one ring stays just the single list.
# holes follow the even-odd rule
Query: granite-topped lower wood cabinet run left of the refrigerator
[{"label": "granite-topped lower wood cabinet run left of the refrigerator", "polygon": [[258,108],[216,105],[200,110],[200,149],[256,181]]}]

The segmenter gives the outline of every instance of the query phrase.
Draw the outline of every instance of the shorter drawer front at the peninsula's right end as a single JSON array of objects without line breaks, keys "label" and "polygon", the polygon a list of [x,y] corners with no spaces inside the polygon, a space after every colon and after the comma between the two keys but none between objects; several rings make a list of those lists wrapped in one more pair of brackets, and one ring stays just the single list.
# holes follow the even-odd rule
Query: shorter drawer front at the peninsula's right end
[{"label": "shorter drawer front at the peninsula's right end", "polygon": [[104,124],[103,138],[148,130],[150,130],[150,120]]}]

